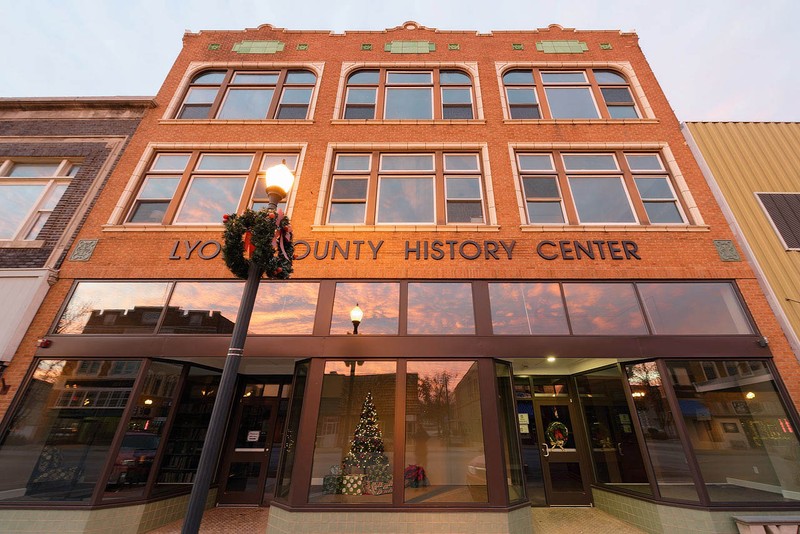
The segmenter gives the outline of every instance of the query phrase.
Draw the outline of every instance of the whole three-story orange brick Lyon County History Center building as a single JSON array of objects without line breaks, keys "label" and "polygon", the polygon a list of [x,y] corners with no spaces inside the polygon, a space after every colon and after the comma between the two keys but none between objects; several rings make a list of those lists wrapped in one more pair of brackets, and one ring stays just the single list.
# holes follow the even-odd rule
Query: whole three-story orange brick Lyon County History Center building
[{"label": "whole three-story orange brick Lyon County History Center building", "polygon": [[156,103],[15,360],[3,506],[181,517],[243,285],[222,215],[285,160],[294,273],[261,284],[214,502],[270,532],[797,511],[800,366],[635,34],[187,33]]}]

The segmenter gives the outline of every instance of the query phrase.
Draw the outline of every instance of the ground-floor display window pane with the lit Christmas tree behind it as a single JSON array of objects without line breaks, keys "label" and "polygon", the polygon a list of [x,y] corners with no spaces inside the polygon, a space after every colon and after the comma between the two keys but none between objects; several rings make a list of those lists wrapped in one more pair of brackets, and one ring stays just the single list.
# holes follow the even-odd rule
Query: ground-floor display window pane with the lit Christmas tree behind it
[{"label": "ground-floor display window pane with the lit Christmas tree behind it", "polygon": [[311,503],[391,503],[395,362],[325,364]]}]

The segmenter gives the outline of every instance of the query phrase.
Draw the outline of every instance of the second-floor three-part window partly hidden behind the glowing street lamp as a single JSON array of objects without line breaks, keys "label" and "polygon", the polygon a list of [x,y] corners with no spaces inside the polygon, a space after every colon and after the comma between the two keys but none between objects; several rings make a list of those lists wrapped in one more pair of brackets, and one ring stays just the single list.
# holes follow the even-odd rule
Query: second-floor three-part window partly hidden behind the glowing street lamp
[{"label": "second-floor three-part window partly hidden behind the glowing street lamp", "polygon": [[294,170],[297,154],[160,152],[150,163],[125,221],[222,224],[226,213],[266,206],[266,186],[256,175],[283,160]]}]

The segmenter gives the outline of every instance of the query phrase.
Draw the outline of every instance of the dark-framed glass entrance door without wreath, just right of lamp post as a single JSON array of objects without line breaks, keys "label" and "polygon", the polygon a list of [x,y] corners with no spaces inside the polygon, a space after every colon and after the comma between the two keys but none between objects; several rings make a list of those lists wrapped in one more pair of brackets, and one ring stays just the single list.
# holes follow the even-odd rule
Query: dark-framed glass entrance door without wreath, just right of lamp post
[{"label": "dark-framed glass entrance door without wreath, just right of lamp post", "polygon": [[277,418],[277,399],[241,397],[222,460],[220,504],[261,504]]}]

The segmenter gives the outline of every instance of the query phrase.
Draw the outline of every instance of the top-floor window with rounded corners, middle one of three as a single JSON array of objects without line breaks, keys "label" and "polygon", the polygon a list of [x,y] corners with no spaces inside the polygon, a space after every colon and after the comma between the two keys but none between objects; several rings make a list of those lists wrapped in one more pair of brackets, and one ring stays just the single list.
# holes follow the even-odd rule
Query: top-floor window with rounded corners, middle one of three
[{"label": "top-floor window with rounded corners, middle one of three", "polygon": [[347,78],[345,119],[474,117],[472,79],[460,70],[364,69]]}]

